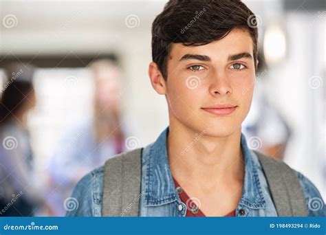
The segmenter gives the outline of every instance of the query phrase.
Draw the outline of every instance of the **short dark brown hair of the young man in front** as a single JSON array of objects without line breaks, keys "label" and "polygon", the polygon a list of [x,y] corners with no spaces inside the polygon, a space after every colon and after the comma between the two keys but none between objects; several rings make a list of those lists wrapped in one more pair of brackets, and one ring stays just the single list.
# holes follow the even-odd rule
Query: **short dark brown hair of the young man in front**
[{"label": "short dark brown hair of the young man in front", "polygon": [[206,45],[240,28],[248,30],[254,44],[257,65],[257,19],[240,0],[171,0],[152,25],[152,59],[167,78],[167,61],[172,43]]}]

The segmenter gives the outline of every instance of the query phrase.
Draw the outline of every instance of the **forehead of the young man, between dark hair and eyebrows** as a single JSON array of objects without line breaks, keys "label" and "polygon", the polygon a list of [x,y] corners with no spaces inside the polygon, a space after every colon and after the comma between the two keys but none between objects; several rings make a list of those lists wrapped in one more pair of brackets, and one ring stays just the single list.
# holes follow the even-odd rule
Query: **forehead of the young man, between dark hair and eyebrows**
[{"label": "forehead of the young man, between dark hair and eyebrows", "polygon": [[170,51],[170,59],[179,60],[185,54],[203,54],[210,58],[227,58],[239,52],[253,53],[253,41],[247,30],[235,29],[224,38],[206,45],[184,46],[174,43]]}]

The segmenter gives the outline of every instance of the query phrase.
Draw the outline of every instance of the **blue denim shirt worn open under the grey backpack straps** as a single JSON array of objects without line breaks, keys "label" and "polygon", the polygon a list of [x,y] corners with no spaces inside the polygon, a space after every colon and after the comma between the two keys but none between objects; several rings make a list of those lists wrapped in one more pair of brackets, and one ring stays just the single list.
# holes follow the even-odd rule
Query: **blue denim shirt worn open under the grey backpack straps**
[{"label": "blue denim shirt worn open under the grey backpack straps", "polygon": [[[157,140],[142,151],[142,182],[139,216],[185,216],[186,205],[180,200],[169,168],[166,150],[166,128]],[[242,196],[236,216],[277,216],[268,183],[257,155],[241,135],[245,162]],[[296,172],[303,188],[308,216],[325,216],[325,203],[317,188],[301,173]],[[77,183],[71,200],[74,208],[66,208],[67,216],[101,216],[104,167],[97,168]],[[68,199],[69,201],[69,199]],[[74,210],[72,210],[74,209]]]}]

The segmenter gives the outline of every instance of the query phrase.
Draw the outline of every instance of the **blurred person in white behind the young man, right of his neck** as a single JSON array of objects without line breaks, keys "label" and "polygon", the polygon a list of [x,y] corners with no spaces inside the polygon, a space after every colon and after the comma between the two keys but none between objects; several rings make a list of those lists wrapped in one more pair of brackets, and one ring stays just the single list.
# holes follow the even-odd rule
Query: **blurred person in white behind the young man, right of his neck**
[{"label": "blurred person in white behind the young man, right of his neck", "polygon": [[[263,52],[263,49],[260,52]],[[290,139],[290,127],[281,112],[270,104],[265,95],[263,85],[268,79],[268,66],[260,52],[254,96],[248,116],[243,121],[242,131],[248,138],[251,148],[259,149],[265,155],[283,159]]]}]

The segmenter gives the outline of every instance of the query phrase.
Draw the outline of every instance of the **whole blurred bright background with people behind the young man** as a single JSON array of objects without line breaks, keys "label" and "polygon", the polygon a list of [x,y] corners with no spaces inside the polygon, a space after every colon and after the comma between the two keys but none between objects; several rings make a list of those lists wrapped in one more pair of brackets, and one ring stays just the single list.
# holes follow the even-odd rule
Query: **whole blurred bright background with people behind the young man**
[{"label": "whole blurred bright background with people behind the young man", "polygon": [[[325,1],[244,2],[259,71],[243,133],[325,200]],[[83,175],[169,124],[147,75],[165,3],[0,1],[0,215],[64,216]]]}]

